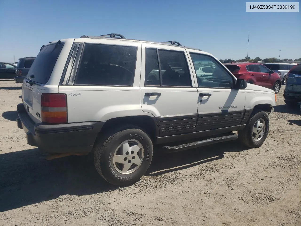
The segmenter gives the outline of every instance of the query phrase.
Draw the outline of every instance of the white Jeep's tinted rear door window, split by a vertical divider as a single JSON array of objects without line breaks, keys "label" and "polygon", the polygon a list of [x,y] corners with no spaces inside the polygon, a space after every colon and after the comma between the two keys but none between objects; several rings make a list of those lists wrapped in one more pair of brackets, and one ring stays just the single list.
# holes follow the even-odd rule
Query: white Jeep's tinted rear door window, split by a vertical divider
[{"label": "white Jeep's tinted rear door window, split by a vertical divider", "polygon": [[191,86],[184,52],[158,50],[160,73],[156,49],[146,49],[145,85],[160,85],[160,74],[163,86]]}]

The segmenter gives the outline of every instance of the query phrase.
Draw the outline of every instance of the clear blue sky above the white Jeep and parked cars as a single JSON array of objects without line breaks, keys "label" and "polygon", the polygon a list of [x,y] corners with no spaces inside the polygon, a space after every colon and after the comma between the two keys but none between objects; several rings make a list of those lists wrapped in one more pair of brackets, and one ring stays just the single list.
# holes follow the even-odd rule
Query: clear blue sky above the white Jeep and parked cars
[{"label": "clear blue sky above the white Jeep and parked cars", "polygon": [[247,56],[248,30],[251,58],[278,58],[279,50],[280,58],[301,57],[301,12],[246,13],[241,0],[2,0],[0,61],[36,56],[49,41],[107,33],[175,40],[237,60]]}]

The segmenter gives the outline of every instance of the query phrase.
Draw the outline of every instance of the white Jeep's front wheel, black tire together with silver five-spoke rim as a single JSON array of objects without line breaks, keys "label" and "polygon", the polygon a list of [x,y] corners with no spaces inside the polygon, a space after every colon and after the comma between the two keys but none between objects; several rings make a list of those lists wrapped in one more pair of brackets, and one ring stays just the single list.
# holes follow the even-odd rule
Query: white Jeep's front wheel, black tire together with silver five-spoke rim
[{"label": "white Jeep's front wheel, black tire together with silver five-spoke rim", "polygon": [[255,109],[243,130],[238,130],[238,140],[250,148],[258,148],[268,136],[269,119],[265,111]]}]

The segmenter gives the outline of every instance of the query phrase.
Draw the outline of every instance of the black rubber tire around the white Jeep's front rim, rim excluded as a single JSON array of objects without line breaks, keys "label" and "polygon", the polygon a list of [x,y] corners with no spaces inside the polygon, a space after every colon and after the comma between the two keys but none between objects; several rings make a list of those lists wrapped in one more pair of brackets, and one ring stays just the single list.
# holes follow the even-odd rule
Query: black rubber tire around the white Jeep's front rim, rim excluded
[{"label": "black rubber tire around the white Jeep's front rim, rim excluded", "polygon": [[[253,137],[253,128],[258,119],[263,119],[265,121],[265,131],[262,138],[256,141]],[[238,130],[238,140],[245,146],[250,148],[258,148],[265,141],[268,136],[269,130],[269,119],[268,114],[265,111],[254,109],[252,115],[250,116],[249,121],[246,124],[246,127],[242,130]]]}]

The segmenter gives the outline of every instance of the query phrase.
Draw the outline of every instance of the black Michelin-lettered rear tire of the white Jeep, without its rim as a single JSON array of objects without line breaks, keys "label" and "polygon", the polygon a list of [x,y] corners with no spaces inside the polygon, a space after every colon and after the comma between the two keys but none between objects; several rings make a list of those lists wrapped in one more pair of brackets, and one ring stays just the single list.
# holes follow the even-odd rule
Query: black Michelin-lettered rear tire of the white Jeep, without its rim
[{"label": "black Michelin-lettered rear tire of the white Jeep, without its rim", "polygon": [[[124,141],[134,139],[141,143],[144,157],[141,165],[132,173],[118,172],[113,163],[113,155],[117,147]],[[142,149],[140,149],[142,152]],[[128,186],[137,182],[151,165],[153,143],[150,137],[139,127],[124,125],[108,131],[99,137],[94,147],[94,165],[98,173],[107,182],[117,186]],[[135,166],[135,165],[134,165]]]}]

